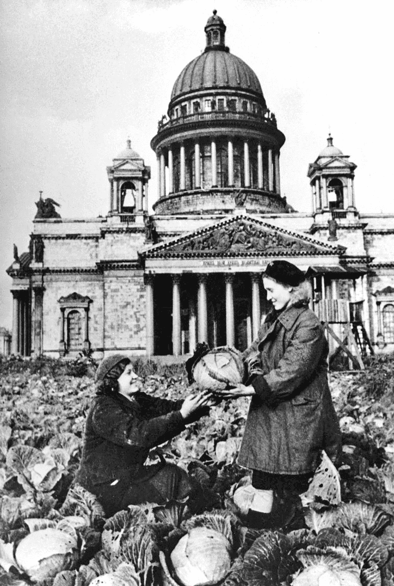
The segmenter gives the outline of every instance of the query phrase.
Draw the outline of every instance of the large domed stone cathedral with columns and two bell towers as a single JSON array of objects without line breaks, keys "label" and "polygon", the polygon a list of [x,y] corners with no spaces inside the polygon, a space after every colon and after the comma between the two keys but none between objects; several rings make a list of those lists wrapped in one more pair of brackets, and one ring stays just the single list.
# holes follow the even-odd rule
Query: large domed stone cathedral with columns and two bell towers
[{"label": "large domed stone cathedral with columns and two bell towers", "polygon": [[131,141],[107,168],[107,216],[64,219],[37,202],[29,251],[8,268],[13,353],[243,350],[269,309],[261,272],[280,258],[308,271],[311,307],[339,339],[356,325],[370,352],[394,351],[394,217],[359,212],[357,165],[331,136],[309,165],[311,212],[295,212],[280,194],[285,136],[258,77],[229,52],[216,11],[204,31],[150,143],[153,215],[151,171]]}]

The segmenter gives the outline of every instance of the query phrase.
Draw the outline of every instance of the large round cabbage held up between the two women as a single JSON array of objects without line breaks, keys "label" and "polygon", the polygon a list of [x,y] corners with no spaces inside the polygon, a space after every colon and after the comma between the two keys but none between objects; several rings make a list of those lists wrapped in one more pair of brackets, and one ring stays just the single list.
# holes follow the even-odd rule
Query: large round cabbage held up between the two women
[{"label": "large round cabbage held up between the two women", "polygon": [[200,356],[191,369],[200,389],[220,393],[242,383],[246,368],[242,354],[231,346],[218,346]]}]

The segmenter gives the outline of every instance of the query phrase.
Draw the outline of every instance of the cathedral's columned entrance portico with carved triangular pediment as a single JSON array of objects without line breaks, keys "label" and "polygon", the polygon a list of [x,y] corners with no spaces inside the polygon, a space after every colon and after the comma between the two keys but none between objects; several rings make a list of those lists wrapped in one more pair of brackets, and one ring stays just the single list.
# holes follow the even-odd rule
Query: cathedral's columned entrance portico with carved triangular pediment
[{"label": "cathedral's columned entrance portico with carved triangular pediment", "polygon": [[307,270],[341,253],[248,216],[151,247],[143,253],[149,354],[189,354],[198,342],[244,349],[269,310],[261,273],[271,260],[290,256]]}]

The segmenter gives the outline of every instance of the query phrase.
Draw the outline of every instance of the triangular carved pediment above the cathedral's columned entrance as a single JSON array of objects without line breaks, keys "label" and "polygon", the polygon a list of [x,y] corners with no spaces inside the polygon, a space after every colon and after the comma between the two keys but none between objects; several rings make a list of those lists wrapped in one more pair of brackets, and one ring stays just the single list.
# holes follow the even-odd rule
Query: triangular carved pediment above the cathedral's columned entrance
[{"label": "triangular carved pediment above the cathedral's columned entrance", "polygon": [[343,254],[342,246],[331,246],[306,234],[273,226],[248,216],[223,220],[166,244],[145,250],[145,258],[299,256]]}]

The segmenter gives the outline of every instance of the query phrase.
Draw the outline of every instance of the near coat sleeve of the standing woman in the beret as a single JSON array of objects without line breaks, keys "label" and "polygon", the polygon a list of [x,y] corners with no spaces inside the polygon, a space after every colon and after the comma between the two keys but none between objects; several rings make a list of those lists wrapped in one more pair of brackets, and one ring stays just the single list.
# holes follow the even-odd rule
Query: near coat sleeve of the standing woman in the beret
[{"label": "near coat sleeve of the standing woman in the beret", "polygon": [[261,400],[274,405],[306,383],[317,367],[326,344],[320,323],[301,319],[277,367],[252,380]]}]

